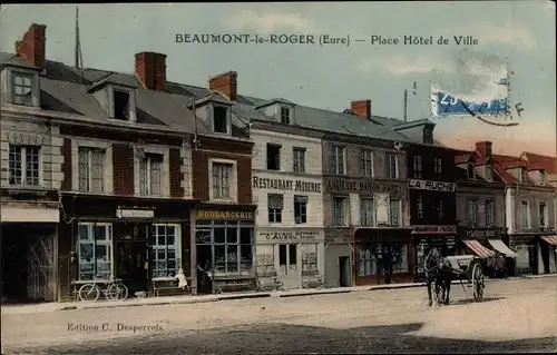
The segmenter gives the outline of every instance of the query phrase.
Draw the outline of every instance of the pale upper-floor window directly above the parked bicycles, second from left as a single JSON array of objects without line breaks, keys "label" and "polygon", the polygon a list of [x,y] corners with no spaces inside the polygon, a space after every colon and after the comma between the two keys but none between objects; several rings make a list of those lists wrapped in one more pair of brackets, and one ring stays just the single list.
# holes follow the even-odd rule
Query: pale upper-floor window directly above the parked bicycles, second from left
[{"label": "pale upper-floor window directly above the parked bicycles, second from left", "polygon": [[79,147],[78,149],[79,190],[104,191],[105,150]]}]

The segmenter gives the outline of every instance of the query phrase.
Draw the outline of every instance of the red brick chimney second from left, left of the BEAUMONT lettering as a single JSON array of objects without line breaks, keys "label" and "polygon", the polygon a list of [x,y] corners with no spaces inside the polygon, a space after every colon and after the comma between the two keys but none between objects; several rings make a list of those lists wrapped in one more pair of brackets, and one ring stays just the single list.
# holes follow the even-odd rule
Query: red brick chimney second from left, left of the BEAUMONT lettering
[{"label": "red brick chimney second from left, left of the BEAUMONT lettering", "polygon": [[145,88],[166,90],[166,55],[140,52],[136,55],[136,76]]}]

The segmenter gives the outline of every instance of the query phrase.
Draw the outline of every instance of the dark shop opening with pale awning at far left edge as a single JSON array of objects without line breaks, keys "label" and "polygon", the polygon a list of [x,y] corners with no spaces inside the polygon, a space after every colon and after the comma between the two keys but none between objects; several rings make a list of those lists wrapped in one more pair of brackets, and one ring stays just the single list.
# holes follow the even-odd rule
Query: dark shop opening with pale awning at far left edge
[{"label": "dark shop opening with pale awning at far left edge", "polygon": [[[45,193],[45,196],[29,203],[31,196],[21,193],[2,191],[2,304],[53,302],[58,298],[56,255],[60,219],[58,203],[53,201],[56,195],[53,191],[31,191],[31,196],[37,193]],[[51,197],[50,201],[48,197]],[[27,199],[27,203],[21,203],[21,199]]]}]

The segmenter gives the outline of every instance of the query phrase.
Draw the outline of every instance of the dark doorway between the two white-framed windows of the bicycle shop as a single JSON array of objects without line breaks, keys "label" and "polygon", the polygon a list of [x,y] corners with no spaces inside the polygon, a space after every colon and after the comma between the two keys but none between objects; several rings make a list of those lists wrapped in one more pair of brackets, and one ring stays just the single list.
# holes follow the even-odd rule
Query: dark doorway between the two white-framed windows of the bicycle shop
[{"label": "dark doorway between the two white-framed windows of the bicycle shop", "polygon": [[149,289],[147,247],[144,241],[117,241],[115,262],[116,277],[123,279],[129,295]]}]

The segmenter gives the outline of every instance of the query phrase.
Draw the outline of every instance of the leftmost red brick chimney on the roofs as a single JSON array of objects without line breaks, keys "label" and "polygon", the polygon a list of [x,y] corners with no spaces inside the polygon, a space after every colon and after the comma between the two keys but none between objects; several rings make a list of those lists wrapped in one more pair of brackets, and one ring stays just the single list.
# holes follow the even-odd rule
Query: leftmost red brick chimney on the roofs
[{"label": "leftmost red brick chimney on the roofs", "polygon": [[32,23],[23,38],[16,42],[16,53],[28,65],[45,68],[46,61],[46,30],[45,24]]}]

